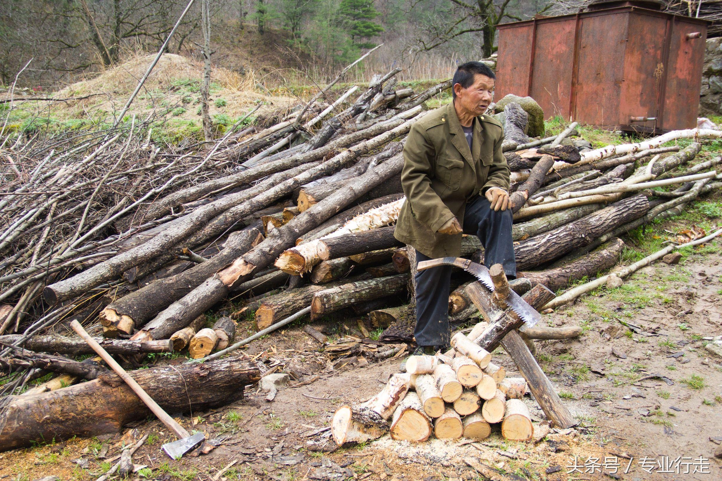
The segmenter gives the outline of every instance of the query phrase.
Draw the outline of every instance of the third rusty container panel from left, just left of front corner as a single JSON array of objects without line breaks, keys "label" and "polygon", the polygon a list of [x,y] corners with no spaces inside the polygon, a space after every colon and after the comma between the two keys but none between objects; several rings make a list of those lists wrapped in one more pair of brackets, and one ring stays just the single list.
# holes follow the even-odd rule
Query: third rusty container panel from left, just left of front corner
[{"label": "third rusty container panel from left, just left of front corner", "polygon": [[583,123],[592,125],[617,125],[628,15],[597,14],[582,18],[574,120],[582,119]]}]

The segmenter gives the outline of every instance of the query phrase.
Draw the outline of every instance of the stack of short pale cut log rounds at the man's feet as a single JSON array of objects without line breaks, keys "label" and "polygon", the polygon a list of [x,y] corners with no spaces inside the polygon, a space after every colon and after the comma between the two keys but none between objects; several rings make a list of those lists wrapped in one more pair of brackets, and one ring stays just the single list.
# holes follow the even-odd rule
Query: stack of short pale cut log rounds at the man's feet
[{"label": "stack of short pale cut log rounds at the man's feet", "polygon": [[[361,443],[387,433],[392,439],[484,439],[492,431],[513,441],[534,434],[523,377],[506,377],[503,366],[474,340],[489,330],[479,322],[458,332],[447,353],[410,356],[405,373],[393,374],[386,387],[367,402],[342,406],[334,413],[331,434],[339,446]],[[498,428],[498,429],[497,429]]]}]

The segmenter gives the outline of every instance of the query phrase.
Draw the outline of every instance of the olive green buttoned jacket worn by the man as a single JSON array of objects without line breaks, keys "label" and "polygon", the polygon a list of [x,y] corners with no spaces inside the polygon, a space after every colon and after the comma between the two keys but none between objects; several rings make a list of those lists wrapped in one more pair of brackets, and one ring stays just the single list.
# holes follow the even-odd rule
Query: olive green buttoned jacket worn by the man
[{"label": "olive green buttoned jacket worn by the man", "polygon": [[464,208],[489,187],[509,190],[509,167],[501,151],[502,125],[489,115],[474,118],[471,147],[453,103],[432,110],[412,126],[404,145],[401,206],[394,236],[427,257],[458,257],[461,234],[439,234],[456,216],[464,225]]}]

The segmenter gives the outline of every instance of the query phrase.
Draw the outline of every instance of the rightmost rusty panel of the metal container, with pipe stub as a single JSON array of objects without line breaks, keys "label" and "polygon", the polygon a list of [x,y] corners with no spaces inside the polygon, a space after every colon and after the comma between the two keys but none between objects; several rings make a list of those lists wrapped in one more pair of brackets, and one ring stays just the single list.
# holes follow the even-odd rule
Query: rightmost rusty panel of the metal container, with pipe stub
[{"label": "rightmost rusty panel of the metal container, with pipe stub", "polygon": [[[684,17],[674,17],[669,21],[671,37],[662,104],[664,112],[661,112],[659,123],[659,127],[666,131],[697,126],[707,38],[706,25],[687,22]],[[700,37],[687,38],[687,34],[695,32],[700,32]]]}]

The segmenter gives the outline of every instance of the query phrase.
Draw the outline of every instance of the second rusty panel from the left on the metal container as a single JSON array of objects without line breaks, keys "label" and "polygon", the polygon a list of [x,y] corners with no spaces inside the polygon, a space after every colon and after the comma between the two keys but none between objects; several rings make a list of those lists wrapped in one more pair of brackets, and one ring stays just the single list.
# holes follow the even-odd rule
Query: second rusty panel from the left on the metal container
[{"label": "second rusty panel from the left on the metal container", "polygon": [[574,68],[570,59],[574,56],[575,30],[574,17],[536,25],[529,94],[539,105],[549,105],[549,108],[542,107],[549,117],[569,118]]}]

